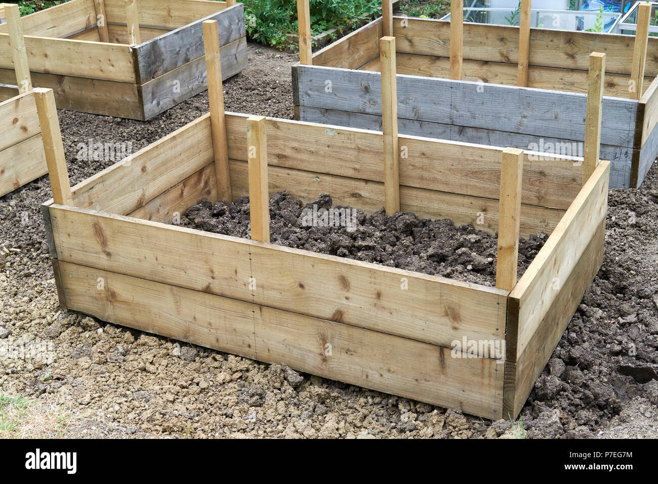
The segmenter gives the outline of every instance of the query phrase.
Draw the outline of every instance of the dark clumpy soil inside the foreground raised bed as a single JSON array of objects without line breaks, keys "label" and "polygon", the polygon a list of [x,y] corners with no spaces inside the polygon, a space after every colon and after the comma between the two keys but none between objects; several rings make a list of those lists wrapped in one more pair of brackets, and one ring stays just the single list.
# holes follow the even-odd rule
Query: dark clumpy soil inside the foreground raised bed
[{"label": "dark clumpy soil inside the foreground raised bed", "polygon": [[[347,220],[352,227],[307,226],[310,220],[306,214],[329,209],[351,214]],[[180,223],[191,229],[249,238],[249,197],[241,196],[233,203],[201,200],[186,210]],[[541,233],[520,240],[519,277],[546,239]],[[334,207],[328,194],[320,194],[318,200],[306,205],[286,192],[274,194],[270,198],[270,242],[495,286],[495,234],[470,224],[455,227],[449,219],[420,219],[414,213],[398,212],[388,217],[380,209],[366,215],[351,207]]]}]

